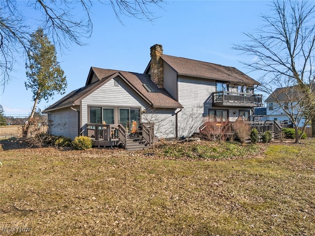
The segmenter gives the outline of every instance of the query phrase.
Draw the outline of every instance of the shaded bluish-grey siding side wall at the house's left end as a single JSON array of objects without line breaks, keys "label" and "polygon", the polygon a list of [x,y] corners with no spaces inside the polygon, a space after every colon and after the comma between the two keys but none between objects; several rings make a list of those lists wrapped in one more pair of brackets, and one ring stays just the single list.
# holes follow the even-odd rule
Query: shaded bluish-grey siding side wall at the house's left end
[{"label": "shaded bluish-grey siding side wall at the house's left end", "polygon": [[[76,106],[74,109],[79,109]],[[74,139],[78,136],[78,113],[71,108],[50,112],[50,133]]]}]

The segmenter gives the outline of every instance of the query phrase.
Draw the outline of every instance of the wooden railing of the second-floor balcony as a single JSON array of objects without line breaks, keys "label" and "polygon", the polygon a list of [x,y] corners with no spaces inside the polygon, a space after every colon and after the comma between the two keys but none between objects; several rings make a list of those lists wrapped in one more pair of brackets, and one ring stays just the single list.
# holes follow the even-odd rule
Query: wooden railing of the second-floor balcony
[{"label": "wooden railing of the second-floor balcony", "polygon": [[213,93],[213,102],[243,102],[262,104],[262,94],[220,91]]}]

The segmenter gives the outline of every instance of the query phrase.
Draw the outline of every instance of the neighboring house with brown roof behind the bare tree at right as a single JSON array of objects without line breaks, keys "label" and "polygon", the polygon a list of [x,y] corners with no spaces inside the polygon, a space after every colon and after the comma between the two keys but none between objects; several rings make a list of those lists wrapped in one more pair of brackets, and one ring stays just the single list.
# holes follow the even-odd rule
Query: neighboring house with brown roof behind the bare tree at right
[{"label": "neighboring house with brown roof behind the bare tree at right", "polygon": [[299,126],[303,126],[305,119],[298,115],[300,112],[298,101],[301,97],[295,86],[275,89],[265,100],[267,105],[266,119],[291,123],[290,118],[284,112],[285,109],[295,118],[298,117]]}]

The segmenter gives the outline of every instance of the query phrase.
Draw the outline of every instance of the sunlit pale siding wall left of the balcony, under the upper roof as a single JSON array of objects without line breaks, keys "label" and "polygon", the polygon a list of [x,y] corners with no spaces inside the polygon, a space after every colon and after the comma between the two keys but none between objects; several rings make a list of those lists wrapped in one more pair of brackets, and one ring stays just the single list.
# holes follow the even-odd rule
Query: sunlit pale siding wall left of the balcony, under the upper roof
[{"label": "sunlit pale siding wall left of the balcony, under the upper roof", "polygon": [[198,128],[208,115],[208,109],[212,108],[211,95],[215,91],[214,80],[184,77],[178,79],[178,101],[184,107],[178,113],[179,137],[199,132]]}]

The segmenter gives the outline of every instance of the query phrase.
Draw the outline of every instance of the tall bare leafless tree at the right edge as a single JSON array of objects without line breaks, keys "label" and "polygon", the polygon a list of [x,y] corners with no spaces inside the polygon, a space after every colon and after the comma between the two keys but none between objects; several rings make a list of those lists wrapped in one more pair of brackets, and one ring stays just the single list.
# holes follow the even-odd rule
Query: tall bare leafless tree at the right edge
[{"label": "tall bare leafless tree at the right edge", "polygon": [[[248,68],[262,71],[260,90],[271,95],[276,88],[295,87],[299,98],[298,116],[310,120],[315,114],[314,86],[315,65],[315,4],[311,1],[274,0],[273,15],[264,15],[265,25],[254,33],[245,33],[249,40],[234,49],[254,56],[254,61],[243,62]],[[276,100],[289,118],[292,112],[284,107],[283,100]],[[294,105],[295,108],[297,106]],[[292,117],[293,118],[293,117]],[[291,120],[295,128],[295,142],[299,143],[298,123]]]}]

